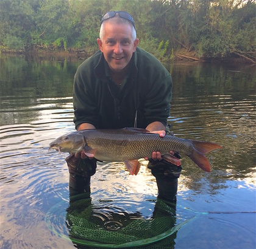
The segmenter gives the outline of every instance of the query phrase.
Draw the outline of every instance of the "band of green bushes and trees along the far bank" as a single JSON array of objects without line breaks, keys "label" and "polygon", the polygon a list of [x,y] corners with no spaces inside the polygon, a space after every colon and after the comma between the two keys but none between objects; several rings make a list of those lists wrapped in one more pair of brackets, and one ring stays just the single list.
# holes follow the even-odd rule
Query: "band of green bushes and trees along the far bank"
[{"label": "band of green bushes and trees along the far bank", "polygon": [[[139,46],[159,60],[177,51],[201,58],[255,53],[254,0],[0,0],[1,49],[98,50],[100,20],[126,10]],[[170,49],[172,48],[172,49]]]}]

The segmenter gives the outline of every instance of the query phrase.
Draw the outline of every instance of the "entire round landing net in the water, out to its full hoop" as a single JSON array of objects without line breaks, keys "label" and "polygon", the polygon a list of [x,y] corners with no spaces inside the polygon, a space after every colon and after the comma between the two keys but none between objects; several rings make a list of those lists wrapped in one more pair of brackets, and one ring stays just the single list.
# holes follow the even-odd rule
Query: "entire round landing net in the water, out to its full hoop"
[{"label": "entire round landing net in the water, out to its full hoop", "polygon": [[148,201],[151,204],[147,207],[140,203],[132,211],[124,199],[98,199],[92,203],[88,197],[78,197],[69,205],[62,200],[52,206],[44,220],[53,233],[71,240],[79,249],[174,248],[177,231],[196,216],[176,206],[176,202]]}]

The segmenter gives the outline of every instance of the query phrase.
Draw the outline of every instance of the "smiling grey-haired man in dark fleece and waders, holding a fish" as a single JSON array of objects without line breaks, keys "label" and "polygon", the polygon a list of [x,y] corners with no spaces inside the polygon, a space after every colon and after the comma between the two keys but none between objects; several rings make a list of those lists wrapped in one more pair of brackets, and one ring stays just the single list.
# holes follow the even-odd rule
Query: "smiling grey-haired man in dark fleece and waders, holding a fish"
[{"label": "smiling grey-haired man in dark fleece and waders, holding a fish", "polygon": [[[99,36],[99,51],[78,67],[74,77],[76,129],[137,127],[164,137],[171,106],[171,75],[154,56],[137,47],[135,23],[129,13],[105,14]],[[173,156],[174,164],[168,163],[154,151],[149,159],[148,168],[163,199],[176,196],[181,171],[177,157]],[[81,152],[66,161],[70,194],[90,193],[96,159]]]}]

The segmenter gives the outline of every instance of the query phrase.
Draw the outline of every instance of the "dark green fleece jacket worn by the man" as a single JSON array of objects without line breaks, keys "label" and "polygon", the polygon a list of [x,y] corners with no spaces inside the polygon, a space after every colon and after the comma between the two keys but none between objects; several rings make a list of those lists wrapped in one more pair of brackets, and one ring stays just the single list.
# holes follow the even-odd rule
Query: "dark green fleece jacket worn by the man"
[{"label": "dark green fleece jacket worn by the man", "polygon": [[172,80],[165,67],[137,47],[127,81],[119,87],[107,76],[105,64],[103,53],[98,51],[77,69],[73,89],[76,129],[82,123],[97,129],[134,127],[135,116],[138,128],[146,128],[154,121],[166,126]]}]

